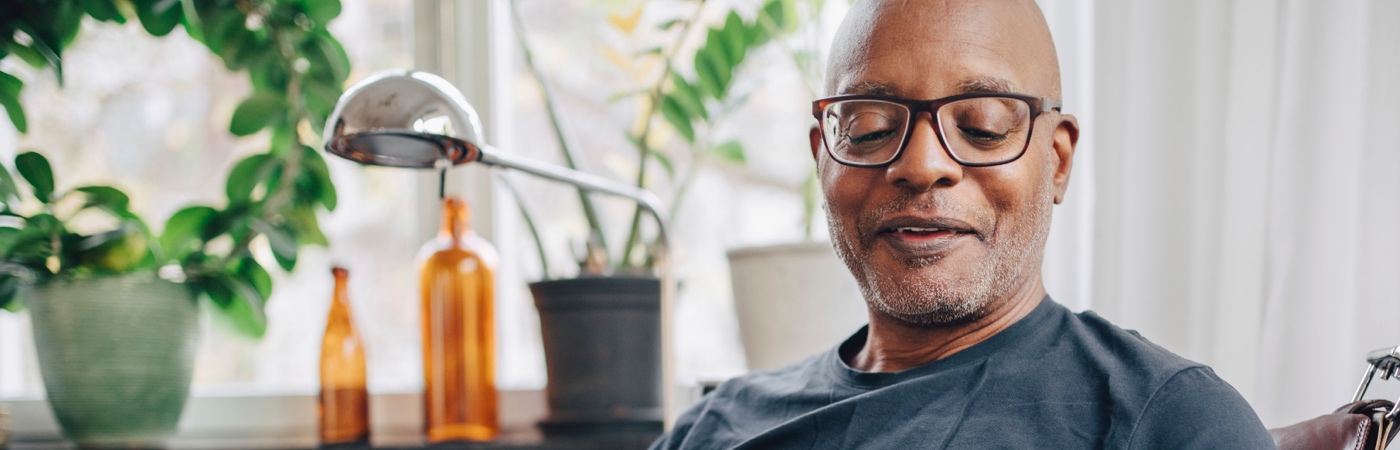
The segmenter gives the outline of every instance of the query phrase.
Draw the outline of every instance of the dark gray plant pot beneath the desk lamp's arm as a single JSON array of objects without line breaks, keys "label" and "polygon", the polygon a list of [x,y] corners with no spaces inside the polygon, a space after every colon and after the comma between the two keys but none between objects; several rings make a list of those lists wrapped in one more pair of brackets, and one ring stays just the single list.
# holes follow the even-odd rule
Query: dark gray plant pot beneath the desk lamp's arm
[{"label": "dark gray plant pot beneath the desk lamp's arm", "polygon": [[549,436],[661,433],[661,282],[594,276],[531,283],[549,386]]}]

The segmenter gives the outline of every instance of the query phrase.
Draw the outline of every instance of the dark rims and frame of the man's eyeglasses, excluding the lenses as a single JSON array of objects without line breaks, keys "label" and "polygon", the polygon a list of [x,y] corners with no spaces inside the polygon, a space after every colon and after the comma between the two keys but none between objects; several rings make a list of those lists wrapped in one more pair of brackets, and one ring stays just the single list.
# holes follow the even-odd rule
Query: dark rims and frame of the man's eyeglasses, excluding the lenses
[{"label": "dark rims and frame of the man's eyeglasses, excluding the lenses", "polygon": [[[1018,151],[1016,156],[1005,161],[997,161],[997,163],[967,163],[959,158],[956,154],[953,154],[953,150],[948,147],[948,139],[944,137],[944,123],[938,121],[938,108],[942,108],[944,105],[959,100],[969,100],[969,98],[1012,98],[1023,101],[1026,102],[1026,105],[1030,107],[1030,125],[1026,128],[1026,143],[1025,146],[1021,147],[1021,151]],[[822,118],[822,112],[826,111],[826,108],[830,107],[832,104],[850,100],[879,100],[903,105],[904,109],[909,109],[909,123],[904,125],[904,137],[900,139],[899,149],[896,149],[895,154],[889,157],[889,161],[885,163],[846,161],[837,157],[834,151],[832,151],[832,144],[826,142],[826,121]],[[953,161],[958,161],[958,164],[962,164],[965,167],[990,167],[990,165],[1007,164],[1019,160],[1022,156],[1025,156],[1026,149],[1030,149],[1030,137],[1035,136],[1036,132],[1036,119],[1040,118],[1040,114],[1043,112],[1051,112],[1051,111],[1060,112],[1061,107],[1063,105],[1058,101],[1050,98],[1025,95],[1025,94],[1012,94],[1012,93],[970,93],[970,94],[958,94],[934,100],[910,100],[903,97],[881,95],[881,94],[853,94],[853,95],[836,95],[836,97],[819,98],[813,101],[812,116],[816,118],[818,130],[822,133],[822,147],[826,147],[826,154],[830,156],[832,160],[836,160],[837,163],[841,163],[844,165],[886,167],[895,164],[895,161],[897,161],[899,157],[904,154],[904,149],[909,147],[909,137],[914,135],[914,125],[917,125],[918,122],[918,114],[927,111],[928,116],[932,118],[932,121],[930,122],[932,122],[934,125],[934,135],[938,135],[938,143],[944,146],[944,153],[948,153],[948,157],[953,158]]]}]

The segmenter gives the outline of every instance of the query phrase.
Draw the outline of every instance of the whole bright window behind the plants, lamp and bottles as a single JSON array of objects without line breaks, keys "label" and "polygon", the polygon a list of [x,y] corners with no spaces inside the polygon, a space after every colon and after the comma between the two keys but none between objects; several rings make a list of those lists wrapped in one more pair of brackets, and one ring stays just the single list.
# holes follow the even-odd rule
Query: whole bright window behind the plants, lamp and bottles
[{"label": "whole bright window behind the plants, lamp and bottles", "polygon": [[[582,168],[630,182],[636,150],[626,140],[626,130],[640,105],[636,97],[622,101],[609,97],[650,83],[655,71],[627,67],[629,63],[606,55],[626,59],[645,45],[668,39],[659,31],[620,34],[610,28],[609,17],[641,8],[638,29],[657,29],[665,20],[693,14],[697,3],[518,4],[540,69],[560,93],[566,126],[588,151]],[[818,3],[795,4],[811,8]],[[759,6],[757,0],[732,6],[706,3],[706,15],[686,45],[699,45],[704,29],[722,22],[729,7],[753,17]],[[351,83],[391,67],[437,71],[456,83],[476,105],[489,142],[522,156],[561,161],[552,133],[546,132],[539,84],[515,45],[508,3],[371,0],[344,1],[343,7],[332,31],[350,53]],[[729,306],[725,250],[804,238],[801,189],[812,172],[806,108],[815,94],[811,73],[801,67],[822,64],[813,60],[799,66],[798,59],[825,53],[822,48],[843,8],[844,3],[829,1],[820,11],[802,10],[805,17],[825,17],[819,25],[785,38],[791,45],[787,50],[795,49],[802,56],[777,46],[749,56],[742,69],[743,84],[736,87],[748,101],[714,129],[717,142],[742,143],[746,164],[692,164],[693,156],[686,156],[672,139],[669,150],[678,154],[676,167],[696,167],[676,175],[690,178],[690,193],[672,220],[676,275],[683,283],[676,329],[682,381],[743,370]],[[207,49],[181,31],[151,38],[136,25],[84,27],[66,53],[69,76],[62,90],[52,74],[25,71],[14,59],[0,62],[27,81],[24,102],[31,116],[31,132],[24,136],[15,135],[8,123],[0,125],[0,157],[10,161],[17,151],[38,149],[55,163],[60,185],[111,182],[129,189],[134,207],[153,226],[185,205],[220,200],[230,165],[244,154],[260,151],[266,139],[234,140],[227,132],[234,107],[249,93],[244,77],[227,73]],[[693,74],[694,69],[683,63],[678,70]],[[664,121],[657,122],[665,126]],[[293,273],[274,271],[277,289],[262,341],[232,335],[206,314],[196,401],[314,394],[330,300],[329,266],[343,264],[350,269],[357,325],[368,342],[370,390],[395,398],[389,404],[412,408],[400,394],[417,393],[421,386],[413,257],[437,229],[435,177],[363,168],[333,157],[328,157],[328,164],[340,205],[322,224],[335,247],[308,250]],[[542,226],[552,268],[543,273],[514,199],[504,189],[490,189],[490,177],[496,175],[459,170],[449,189],[469,195],[475,202],[473,221],[503,254],[497,299],[498,384],[503,390],[539,390],[545,386],[545,367],[525,282],[575,275],[570,266],[577,268],[573,252],[587,236],[585,223],[568,186],[501,174],[521,188],[525,206]],[[671,200],[678,184],[658,177],[648,188]],[[598,200],[610,217],[609,240],[622,241],[633,206],[603,196]],[[816,226],[812,237],[825,240],[825,220],[818,217],[812,223]],[[42,384],[27,314],[0,313],[0,401],[32,401],[42,395]],[[188,411],[197,415],[211,409]],[[186,428],[189,421],[186,416]]]}]

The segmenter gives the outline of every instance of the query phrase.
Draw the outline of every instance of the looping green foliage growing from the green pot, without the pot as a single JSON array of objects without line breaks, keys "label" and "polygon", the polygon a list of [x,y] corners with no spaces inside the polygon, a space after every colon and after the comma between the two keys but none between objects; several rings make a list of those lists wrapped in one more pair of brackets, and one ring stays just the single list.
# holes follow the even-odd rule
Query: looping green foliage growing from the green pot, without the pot
[{"label": "looping green foliage growing from the green pot, without the pot", "polygon": [[[253,94],[234,111],[230,132],[272,130],[267,151],[245,157],[228,174],[221,207],[185,207],[165,221],[158,237],[127,210],[122,191],[85,186],[55,195],[48,161],[36,153],[21,154],[15,170],[29,181],[36,200],[31,206],[38,210],[22,213],[21,192],[6,172],[0,214],[22,224],[0,227],[6,268],[0,271],[0,307],[18,308],[21,280],[175,265],[183,282],[225,313],[235,329],[260,336],[272,278],[249,250],[270,247],[276,265],[290,271],[301,247],[328,244],[316,212],[335,209],[336,191],[314,146],[350,71],[344,50],[326,29],[339,13],[337,0],[20,0],[0,6],[0,57],[15,55],[35,67],[52,67],[60,83],[63,48],[77,36],[84,17],[118,24],[137,18],[157,36],[183,25],[227,69],[246,71],[253,86]],[[20,132],[28,128],[20,105],[22,86],[0,71],[0,105]],[[71,217],[59,214],[64,207],[69,213],[105,210],[116,224],[80,234],[66,226]]]}]

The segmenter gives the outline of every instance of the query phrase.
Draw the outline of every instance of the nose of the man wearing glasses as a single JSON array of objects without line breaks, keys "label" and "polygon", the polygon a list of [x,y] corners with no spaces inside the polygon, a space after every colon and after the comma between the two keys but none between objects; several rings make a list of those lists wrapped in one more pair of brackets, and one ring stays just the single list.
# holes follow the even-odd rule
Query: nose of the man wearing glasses
[{"label": "nose of the man wearing glasses", "polygon": [[895,186],[916,192],[952,186],[962,181],[962,164],[944,150],[934,126],[931,115],[918,114],[914,129],[910,130],[909,144],[903,154],[885,168],[885,179]]}]

